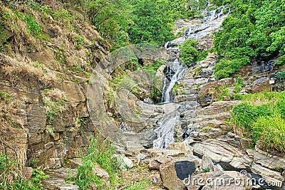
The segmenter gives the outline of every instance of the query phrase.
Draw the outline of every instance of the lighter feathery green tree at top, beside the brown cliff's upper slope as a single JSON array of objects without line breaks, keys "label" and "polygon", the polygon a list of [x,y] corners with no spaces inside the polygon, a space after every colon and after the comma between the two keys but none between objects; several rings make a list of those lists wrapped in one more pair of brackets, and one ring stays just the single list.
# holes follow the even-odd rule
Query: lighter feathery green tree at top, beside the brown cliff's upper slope
[{"label": "lighter feathery green tree at top, beside the brown cliff's upper slope", "polygon": [[[81,7],[97,28],[103,38],[115,46],[125,46],[128,36],[125,36],[132,22],[132,6],[127,0],[75,0],[74,4]],[[123,38],[122,38],[123,36]],[[118,44],[123,43],[123,44]]]}]

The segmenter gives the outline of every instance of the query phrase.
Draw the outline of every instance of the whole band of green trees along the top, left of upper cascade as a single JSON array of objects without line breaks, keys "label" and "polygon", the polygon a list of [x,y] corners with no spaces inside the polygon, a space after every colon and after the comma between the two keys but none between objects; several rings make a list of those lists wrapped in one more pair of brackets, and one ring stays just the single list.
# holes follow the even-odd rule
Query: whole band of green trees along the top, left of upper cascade
[{"label": "whole band of green trees along the top, left of upper cascade", "polygon": [[178,0],[74,0],[88,14],[90,21],[114,48],[128,43],[162,45],[175,36],[177,19],[199,16],[207,1]]}]

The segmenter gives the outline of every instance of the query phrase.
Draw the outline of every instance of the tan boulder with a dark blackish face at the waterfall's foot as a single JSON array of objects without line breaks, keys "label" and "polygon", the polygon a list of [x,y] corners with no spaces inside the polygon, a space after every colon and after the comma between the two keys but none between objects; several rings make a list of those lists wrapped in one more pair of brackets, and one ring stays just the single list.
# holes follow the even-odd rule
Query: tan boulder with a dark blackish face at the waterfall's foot
[{"label": "tan boulder with a dark blackish face at the waterfall's foot", "polygon": [[190,158],[172,159],[160,165],[162,184],[169,190],[184,190],[184,179],[191,176],[197,169],[197,162]]}]

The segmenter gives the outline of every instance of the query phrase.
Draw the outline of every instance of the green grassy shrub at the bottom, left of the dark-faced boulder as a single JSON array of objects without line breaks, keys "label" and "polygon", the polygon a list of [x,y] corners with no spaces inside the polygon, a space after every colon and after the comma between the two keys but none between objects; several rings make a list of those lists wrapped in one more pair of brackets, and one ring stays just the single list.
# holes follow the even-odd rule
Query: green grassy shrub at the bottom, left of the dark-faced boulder
[{"label": "green grassy shrub at the bottom, left of the dark-faced boulder", "polygon": [[82,165],[77,168],[76,184],[80,189],[88,189],[90,184],[95,184],[99,189],[107,189],[102,186],[103,180],[93,174],[92,168],[96,163],[105,169],[110,176],[111,186],[115,186],[117,181],[116,173],[119,169],[120,163],[117,161],[113,154],[115,154],[115,147],[113,144],[105,139],[102,143],[92,135],[89,138],[88,146],[81,153]]}]

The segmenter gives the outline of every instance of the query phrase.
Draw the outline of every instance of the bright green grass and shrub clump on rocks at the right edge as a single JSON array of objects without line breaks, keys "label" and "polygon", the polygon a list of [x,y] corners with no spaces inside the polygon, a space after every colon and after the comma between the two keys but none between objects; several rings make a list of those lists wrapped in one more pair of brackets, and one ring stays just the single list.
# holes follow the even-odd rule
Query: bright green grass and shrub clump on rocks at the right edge
[{"label": "bright green grass and shrub clump on rocks at the right edge", "polygon": [[232,108],[231,122],[266,150],[285,152],[285,92],[248,94]]}]

